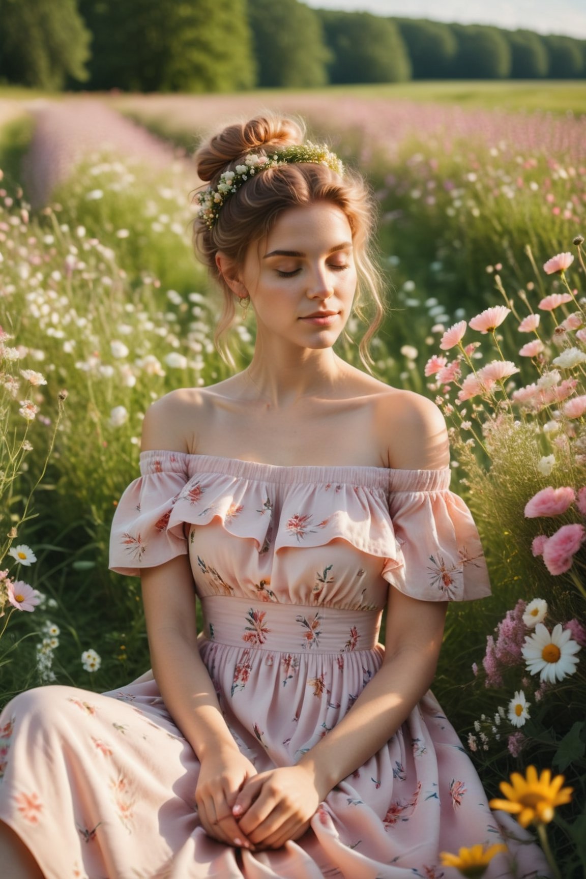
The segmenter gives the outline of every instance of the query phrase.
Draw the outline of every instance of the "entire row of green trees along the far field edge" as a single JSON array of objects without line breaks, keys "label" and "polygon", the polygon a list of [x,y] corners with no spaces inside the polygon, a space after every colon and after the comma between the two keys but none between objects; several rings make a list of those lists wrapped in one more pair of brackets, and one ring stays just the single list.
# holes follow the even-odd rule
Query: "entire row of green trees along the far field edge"
[{"label": "entire row of green trees along the far field edge", "polygon": [[586,40],[299,0],[0,0],[0,83],[236,91],[586,78]]}]

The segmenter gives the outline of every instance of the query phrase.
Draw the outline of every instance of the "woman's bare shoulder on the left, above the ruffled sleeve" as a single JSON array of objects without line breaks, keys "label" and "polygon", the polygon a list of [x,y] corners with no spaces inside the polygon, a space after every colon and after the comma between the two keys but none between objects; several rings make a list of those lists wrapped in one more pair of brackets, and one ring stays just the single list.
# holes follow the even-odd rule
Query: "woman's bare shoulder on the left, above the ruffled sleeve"
[{"label": "woman's bare shoulder on the left, above the ruffled sleeve", "polygon": [[191,452],[197,445],[198,425],[208,408],[206,393],[199,388],[172,390],[160,397],[145,413],[141,451]]}]

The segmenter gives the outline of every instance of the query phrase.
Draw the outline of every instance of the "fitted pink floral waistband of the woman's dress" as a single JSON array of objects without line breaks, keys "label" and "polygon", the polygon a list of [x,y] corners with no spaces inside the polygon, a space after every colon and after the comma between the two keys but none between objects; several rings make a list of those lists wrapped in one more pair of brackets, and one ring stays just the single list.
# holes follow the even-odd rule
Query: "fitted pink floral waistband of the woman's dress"
[{"label": "fitted pink floral waistband of the woman's dress", "polygon": [[206,595],[201,606],[207,640],[287,653],[373,650],[382,613],[255,602],[224,595]]}]

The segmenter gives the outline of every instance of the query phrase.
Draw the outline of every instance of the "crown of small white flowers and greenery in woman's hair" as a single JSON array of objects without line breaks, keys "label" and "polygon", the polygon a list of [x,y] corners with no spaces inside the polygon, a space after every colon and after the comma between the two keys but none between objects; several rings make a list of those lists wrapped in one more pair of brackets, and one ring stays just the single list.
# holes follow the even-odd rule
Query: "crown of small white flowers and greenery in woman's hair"
[{"label": "crown of small white flowers and greenery in woman's hair", "polygon": [[327,165],[331,171],[342,174],[344,165],[335,153],[331,153],[325,144],[307,143],[280,147],[271,151],[270,156],[259,156],[258,153],[249,153],[242,164],[237,164],[234,171],[223,171],[215,189],[206,189],[198,194],[198,216],[201,222],[206,223],[208,229],[213,226],[220,216],[221,207],[230,195],[238,192],[242,184],[250,177],[254,177],[258,171],[265,168],[275,168],[281,164],[293,164],[297,162],[309,162],[313,164]]}]

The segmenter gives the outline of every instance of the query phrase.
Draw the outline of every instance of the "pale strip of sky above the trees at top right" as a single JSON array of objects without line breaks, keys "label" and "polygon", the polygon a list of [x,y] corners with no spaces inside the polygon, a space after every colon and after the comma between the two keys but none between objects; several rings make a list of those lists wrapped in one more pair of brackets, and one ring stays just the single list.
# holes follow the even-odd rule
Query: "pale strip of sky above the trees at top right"
[{"label": "pale strip of sky above the trees at top right", "polygon": [[402,18],[458,21],[463,25],[497,25],[514,31],[565,33],[586,40],[584,0],[305,0],[319,9],[374,12]]}]

